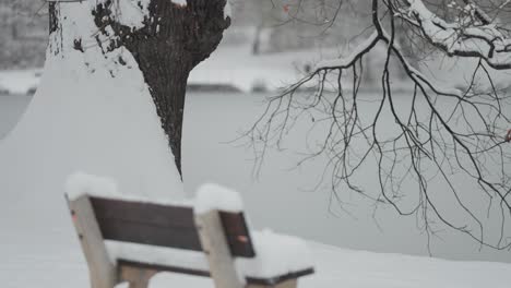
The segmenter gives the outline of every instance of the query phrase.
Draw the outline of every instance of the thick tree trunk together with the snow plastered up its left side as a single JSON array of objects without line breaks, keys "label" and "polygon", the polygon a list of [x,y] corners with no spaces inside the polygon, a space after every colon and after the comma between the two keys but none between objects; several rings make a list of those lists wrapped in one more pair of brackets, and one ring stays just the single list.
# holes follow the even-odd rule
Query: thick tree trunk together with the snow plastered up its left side
[{"label": "thick tree trunk together with the snow plastered up its left side", "polygon": [[[0,142],[0,191],[13,203],[8,209],[45,211],[45,203],[62,201],[67,177],[80,170],[115,179],[121,193],[182,197],[187,79],[229,25],[225,5],[51,2],[41,84]],[[41,215],[56,219],[54,212]]]}]

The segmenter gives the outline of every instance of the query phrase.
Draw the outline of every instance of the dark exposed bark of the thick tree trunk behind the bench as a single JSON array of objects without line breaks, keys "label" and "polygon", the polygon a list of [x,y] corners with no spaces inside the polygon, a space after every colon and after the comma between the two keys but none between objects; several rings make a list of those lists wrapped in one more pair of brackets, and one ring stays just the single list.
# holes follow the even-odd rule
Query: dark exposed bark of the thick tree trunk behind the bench
[{"label": "dark exposed bark of the thick tree trunk behind the bench", "polygon": [[[118,1],[128,1],[130,4],[138,2],[142,10],[141,1],[107,0],[98,4],[91,16],[98,32],[108,36],[109,41],[104,44],[97,37],[97,43],[105,53],[124,47],[139,63],[181,173],[181,134],[188,75],[216,49],[224,29],[229,26],[230,19],[224,14],[227,0],[188,0],[187,4],[151,0],[143,25],[136,28],[119,23],[118,15],[123,11],[120,11]],[[51,2],[49,9],[50,32],[56,32],[59,29],[59,3]],[[80,38],[74,39],[74,48],[86,49]],[[123,59],[119,58],[118,63],[124,64]]]}]

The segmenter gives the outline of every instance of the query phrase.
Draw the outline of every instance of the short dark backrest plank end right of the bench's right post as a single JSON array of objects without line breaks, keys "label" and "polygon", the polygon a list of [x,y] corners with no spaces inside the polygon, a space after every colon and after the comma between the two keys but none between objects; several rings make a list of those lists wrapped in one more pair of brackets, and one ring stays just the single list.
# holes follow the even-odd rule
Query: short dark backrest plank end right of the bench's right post
[{"label": "short dark backrest plank end right of the bench's right post", "polygon": [[239,257],[254,257],[255,251],[243,213],[219,213],[230,253]]}]

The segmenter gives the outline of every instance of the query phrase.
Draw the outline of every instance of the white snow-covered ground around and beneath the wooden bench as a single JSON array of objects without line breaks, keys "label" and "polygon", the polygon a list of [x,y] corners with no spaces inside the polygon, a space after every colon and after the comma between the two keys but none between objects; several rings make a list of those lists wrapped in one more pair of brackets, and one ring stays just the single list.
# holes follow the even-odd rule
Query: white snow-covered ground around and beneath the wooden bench
[{"label": "white snow-covered ground around and beneath the wooden bench", "polygon": [[[0,207],[11,203],[3,199]],[[64,202],[38,203],[46,211],[62,211]],[[2,214],[0,212],[0,214]],[[0,217],[2,227],[0,280],[2,288],[85,288],[87,267],[67,214],[34,225],[40,215],[20,209],[16,217]],[[32,223],[32,225],[31,225]],[[40,224],[40,223],[39,223]],[[340,249],[309,241],[317,273],[300,279],[310,288],[506,288],[511,265],[488,262],[452,262],[430,257]],[[213,287],[209,278],[162,273],[152,288]]]}]

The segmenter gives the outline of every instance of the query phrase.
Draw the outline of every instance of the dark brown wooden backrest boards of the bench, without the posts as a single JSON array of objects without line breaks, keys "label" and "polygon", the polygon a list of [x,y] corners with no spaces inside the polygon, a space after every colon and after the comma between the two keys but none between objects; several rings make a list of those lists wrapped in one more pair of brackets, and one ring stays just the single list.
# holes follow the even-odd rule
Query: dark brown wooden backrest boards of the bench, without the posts
[{"label": "dark brown wooden backrest boards of the bench, without the posts", "polygon": [[[202,251],[193,208],[90,197],[105,240]],[[218,212],[233,256],[254,257],[242,213]]]}]

